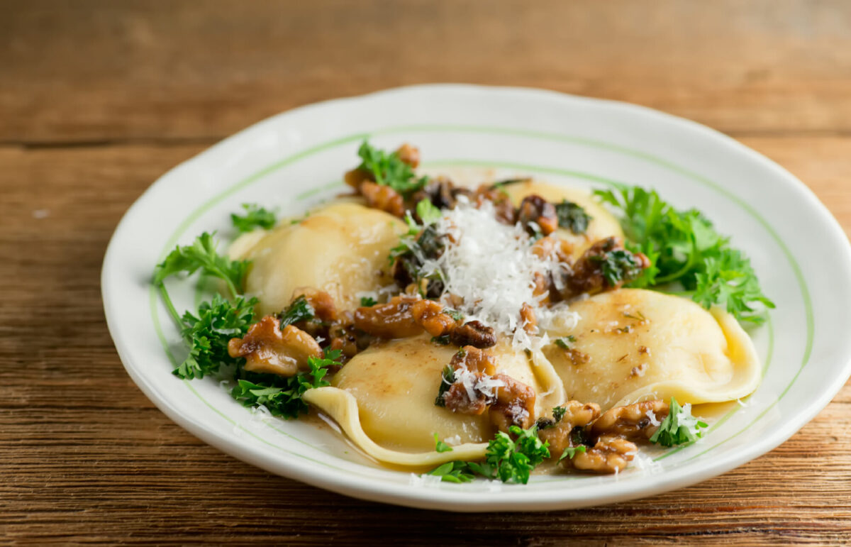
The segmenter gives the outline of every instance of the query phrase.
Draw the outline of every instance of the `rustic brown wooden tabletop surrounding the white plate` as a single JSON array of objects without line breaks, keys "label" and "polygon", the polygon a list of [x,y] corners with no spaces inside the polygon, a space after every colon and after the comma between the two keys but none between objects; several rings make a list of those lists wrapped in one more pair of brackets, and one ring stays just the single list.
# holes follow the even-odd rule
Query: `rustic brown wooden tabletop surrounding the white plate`
[{"label": "rustic brown wooden tabletop surrounding the white plate", "polygon": [[698,486],[480,516],[269,475],[136,389],[99,283],[134,199],[261,118],[423,82],[557,89],[692,118],[784,165],[851,229],[844,0],[0,3],[0,541],[851,542],[849,385],[774,452]]}]

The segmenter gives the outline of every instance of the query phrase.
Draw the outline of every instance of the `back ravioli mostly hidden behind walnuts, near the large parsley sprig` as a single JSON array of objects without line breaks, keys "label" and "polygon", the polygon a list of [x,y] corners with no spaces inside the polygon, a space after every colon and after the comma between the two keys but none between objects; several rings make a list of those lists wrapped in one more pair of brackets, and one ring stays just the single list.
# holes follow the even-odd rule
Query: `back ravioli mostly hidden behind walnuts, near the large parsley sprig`
[{"label": "back ravioli mostly hidden behind walnuts, near the large parsley sprig", "polygon": [[615,236],[623,239],[624,232],[620,229],[620,223],[612,216],[603,205],[591,199],[591,194],[580,188],[556,186],[538,181],[523,181],[505,185],[505,192],[511,197],[515,206],[519,205],[523,198],[531,194],[537,194],[541,198],[553,204],[559,204],[563,199],[581,205],[591,222],[585,233],[576,234],[566,228],[558,228],[557,235],[574,245],[573,257],[578,258],[588,247],[594,245],[600,239]]}]

